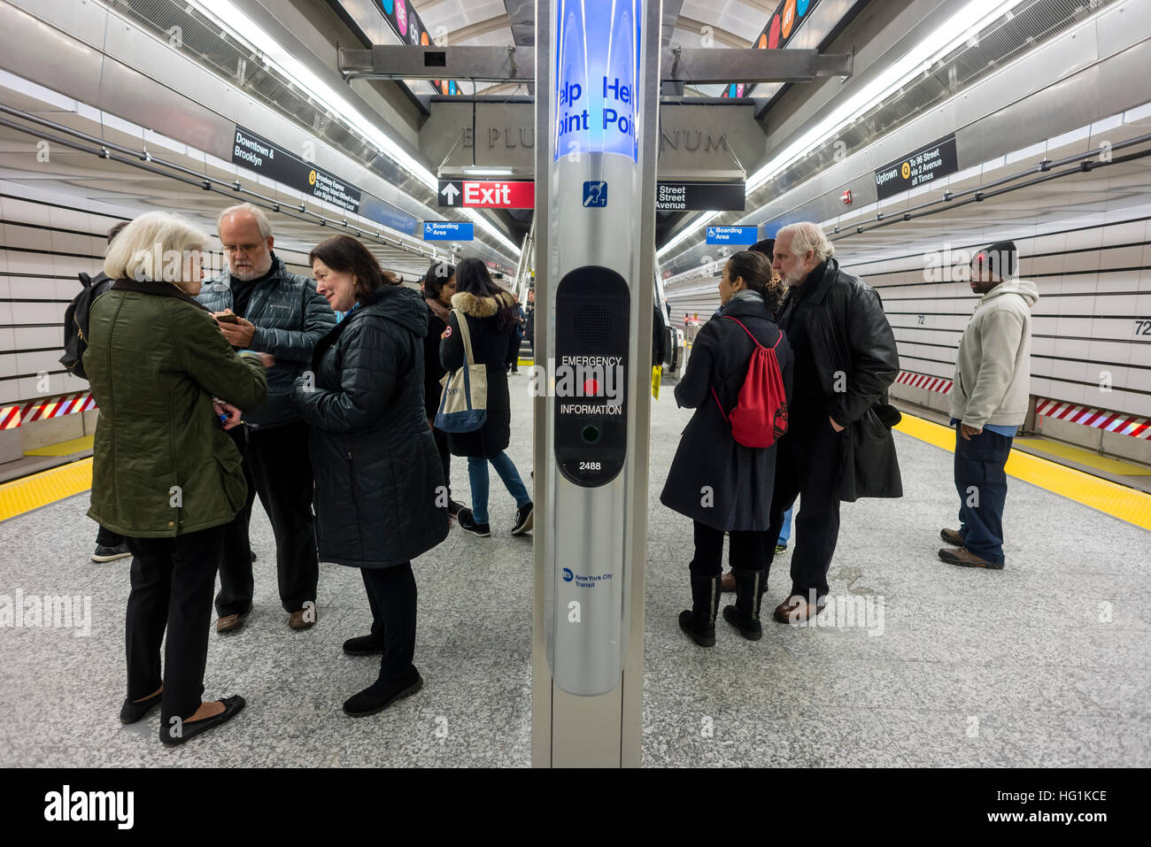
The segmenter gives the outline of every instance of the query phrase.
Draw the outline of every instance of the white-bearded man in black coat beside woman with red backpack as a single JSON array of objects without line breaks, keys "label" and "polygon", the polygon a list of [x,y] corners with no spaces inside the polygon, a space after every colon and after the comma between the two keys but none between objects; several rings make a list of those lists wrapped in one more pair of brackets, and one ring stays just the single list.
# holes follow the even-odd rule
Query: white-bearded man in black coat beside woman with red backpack
[{"label": "white-bearded man in black coat beside woman with red backpack", "polygon": [[791,592],[773,615],[784,624],[808,620],[826,602],[840,501],[902,496],[890,429],[899,412],[887,404],[887,386],[899,374],[895,337],[875,289],[841,270],[834,252],[814,223],[776,234],[772,267],[788,289],[778,322],[795,366],[776,459],[769,556],[784,513],[796,496],[803,501]]}]

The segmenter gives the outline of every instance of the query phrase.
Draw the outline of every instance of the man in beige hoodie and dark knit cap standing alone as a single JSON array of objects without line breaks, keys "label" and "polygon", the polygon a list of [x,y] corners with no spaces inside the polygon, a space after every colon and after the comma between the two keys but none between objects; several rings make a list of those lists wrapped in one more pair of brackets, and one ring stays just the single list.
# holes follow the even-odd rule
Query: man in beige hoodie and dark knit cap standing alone
[{"label": "man in beige hoodie and dark knit cap standing alone", "polygon": [[1031,306],[1035,283],[1015,278],[1014,242],[997,242],[971,259],[971,290],[982,295],[963,330],[951,389],[955,427],[959,531],[939,536],[958,549],[939,558],[963,567],[1004,566],[1004,465],[1027,418],[1031,382]]}]

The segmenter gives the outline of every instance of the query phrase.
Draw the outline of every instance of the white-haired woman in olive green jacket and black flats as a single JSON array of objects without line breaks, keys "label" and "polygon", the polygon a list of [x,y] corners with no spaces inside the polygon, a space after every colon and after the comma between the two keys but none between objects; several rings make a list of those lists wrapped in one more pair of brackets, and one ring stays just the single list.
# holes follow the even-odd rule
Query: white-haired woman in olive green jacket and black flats
[{"label": "white-haired woman in olive green jacket and black flats", "polygon": [[168,746],[244,708],[241,696],[200,695],[223,525],[247,494],[223,429],[264,402],[270,364],[261,353],[234,352],[193,299],[206,244],[166,212],[129,223],[105,258],[114,282],[92,305],[84,354],[100,407],[87,513],[123,535],[134,557],[120,719],[135,723],[159,705]]}]

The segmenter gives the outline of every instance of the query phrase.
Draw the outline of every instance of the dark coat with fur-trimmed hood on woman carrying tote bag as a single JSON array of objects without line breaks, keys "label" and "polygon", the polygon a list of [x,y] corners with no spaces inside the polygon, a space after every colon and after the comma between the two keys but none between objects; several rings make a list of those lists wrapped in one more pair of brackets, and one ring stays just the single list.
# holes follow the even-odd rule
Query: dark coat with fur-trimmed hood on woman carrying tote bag
[{"label": "dark coat with fur-trimmed hood on woman carrying tote bag", "polygon": [[[467,316],[467,330],[472,336],[473,364],[486,365],[488,376],[488,419],[474,433],[449,433],[448,449],[453,456],[477,456],[491,458],[508,449],[511,441],[511,397],[508,394],[508,344],[516,333],[514,322],[498,328],[498,311],[502,306],[514,306],[516,298],[508,291],[496,297],[475,297],[460,291],[451,297],[451,306]],[[458,316],[453,311],[448,319],[448,337],[440,342],[440,363],[449,372],[464,365],[464,342],[459,333]]]}]

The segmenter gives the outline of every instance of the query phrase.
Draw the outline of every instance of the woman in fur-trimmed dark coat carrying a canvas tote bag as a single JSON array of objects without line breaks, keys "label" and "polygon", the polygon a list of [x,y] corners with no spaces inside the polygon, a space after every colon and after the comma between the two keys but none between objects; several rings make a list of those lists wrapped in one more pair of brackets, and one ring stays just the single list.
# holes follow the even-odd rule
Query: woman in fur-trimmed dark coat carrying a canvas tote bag
[{"label": "woman in fur-trimmed dark coat carrying a canvas tote bag", "polygon": [[491,534],[488,522],[490,461],[516,498],[512,534],[519,535],[532,528],[533,508],[532,497],[516,465],[504,452],[511,441],[511,398],[504,361],[508,344],[516,333],[516,297],[491,281],[481,260],[470,258],[456,266],[456,293],[451,305],[448,328],[440,342],[440,361],[449,372],[464,366],[464,342],[458,323],[463,312],[472,338],[473,364],[486,366],[488,380],[487,421],[475,432],[448,435],[452,455],[467,457],[467,476],[472,488],[472,509],[459,512],[459,527],[473,535]]}]

